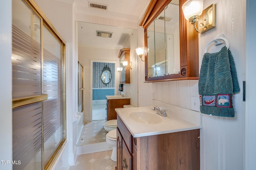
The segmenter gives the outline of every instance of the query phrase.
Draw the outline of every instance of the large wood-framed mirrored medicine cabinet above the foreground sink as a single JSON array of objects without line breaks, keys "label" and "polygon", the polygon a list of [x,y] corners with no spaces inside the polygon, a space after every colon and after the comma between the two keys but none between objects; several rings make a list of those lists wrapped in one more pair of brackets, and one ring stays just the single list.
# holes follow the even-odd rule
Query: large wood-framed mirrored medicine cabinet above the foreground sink
[{"label": "large wood-framed mirrored medicine cabinet above the foreground sink", "polygon": [[[144,28],[145,82],[196,80],[199,77],[198,33],[194,30],[194,26],[184,18],[182,12],[184,2],[186,2],[186,0],[150,1],[142,21],[140,22],[140,26]],[[174,6],[174,8],[171,6]],[[178,33],[176,31],[176,35],[175,33],[174,35],[172,35],[172,33],[168,34],[170,28],[166,25],[168,24],[167,15],[169,13],[176,15],[176,18],[170,17],[170,20],[178,19],[176,24]],[[159,25],[156,25],[158,19],[164,20],[164,23],[161,23],[164,28],[159,29]],[[163,30],[163,33],[159,30]],[[150,37],[149,34],[152,34],[154,37],[154,45],[152,46],[150,46],[148,40]],[[164,42],[158,42],[160,34],[163,34]],[[170,47],[170,40],[172,41],[171,44],[174,44],[175,41],[177,43],[179,41],[179,44],[174,44]],[[157,46],[160,44],[163,44],[163,49],[158,51]],[[177,52],[178,49],[180,49],[180,51]],[[172,51],[171,55],[173,57],[167,54],[167,52],[170,53],[170,51]],[[150,57],[150,55],[153,57]],[[159,61],[160,58],[163,59]],[[175,58],[177,58],[176,61]],[[178,66],[177,64],[174,66],[174,63],[178,63]],[[176,68],[171,68],[172,66]]]}]

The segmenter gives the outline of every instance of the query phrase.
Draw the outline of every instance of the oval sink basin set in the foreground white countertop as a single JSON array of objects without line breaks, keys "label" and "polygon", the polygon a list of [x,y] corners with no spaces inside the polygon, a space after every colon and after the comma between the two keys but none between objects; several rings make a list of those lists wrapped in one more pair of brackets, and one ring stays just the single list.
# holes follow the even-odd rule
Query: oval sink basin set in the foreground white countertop
[{"label": "oval sink basin set in the foreground white countertop", "polygon": [[134,121],[138,121],[140,123],[145,124],[156,124],[162,122],[162,117],[157,115],[156,113],[152,113],[150,111],[136,111],[130,113],[130,117]]}]

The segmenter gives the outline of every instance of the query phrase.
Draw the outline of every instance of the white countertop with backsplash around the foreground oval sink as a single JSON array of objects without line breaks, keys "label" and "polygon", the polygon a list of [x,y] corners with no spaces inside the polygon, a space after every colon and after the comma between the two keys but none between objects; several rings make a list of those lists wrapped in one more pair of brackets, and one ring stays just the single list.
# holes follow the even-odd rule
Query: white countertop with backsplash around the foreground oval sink
[{"label": "white countertop with backsplash around the foreground oval sink", "polygon": [[[200,112],[172,105],[170,107],[166,112],[166,117],[156,114],[156,111],[152,111],[153,107],[117,108],[115,110],[133,137],[160,135],[202,128],[202,114]],[[152,112],[152,114],[158,115],[162,121],[155,124],[146,124],[135,121],[130,117],[131,113],[142,111],[147,111],[149,112],[148,114]]]}]

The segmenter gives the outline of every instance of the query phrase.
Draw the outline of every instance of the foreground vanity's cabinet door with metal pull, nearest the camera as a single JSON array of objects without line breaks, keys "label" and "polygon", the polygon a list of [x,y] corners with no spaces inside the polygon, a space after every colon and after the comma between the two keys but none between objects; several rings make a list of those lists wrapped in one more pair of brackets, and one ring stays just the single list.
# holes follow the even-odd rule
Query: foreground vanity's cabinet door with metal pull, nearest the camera
[{"label": "foreground vanity's cabinet door with metal pull, nearest the camera", "polygon": [[132,170],[132,155],[122,140],[122,170]]}]

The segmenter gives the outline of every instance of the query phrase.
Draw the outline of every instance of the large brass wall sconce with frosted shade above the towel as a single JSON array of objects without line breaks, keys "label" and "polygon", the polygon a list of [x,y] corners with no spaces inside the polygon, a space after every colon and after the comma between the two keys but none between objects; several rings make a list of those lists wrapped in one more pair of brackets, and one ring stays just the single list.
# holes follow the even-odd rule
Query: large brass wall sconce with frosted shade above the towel
[{"label": "large brass wall sconce with frosted shade above the towel", "polygon": [[[203,0],[188,0],[182,6],[186,20],[194,25],[194,28],[198,33],[204,33],[215,27],[216,5],[212,4],[203,10],[203,4]],[[202,27],[200,31],[196,28],[197,22],[198,27]]]}]

